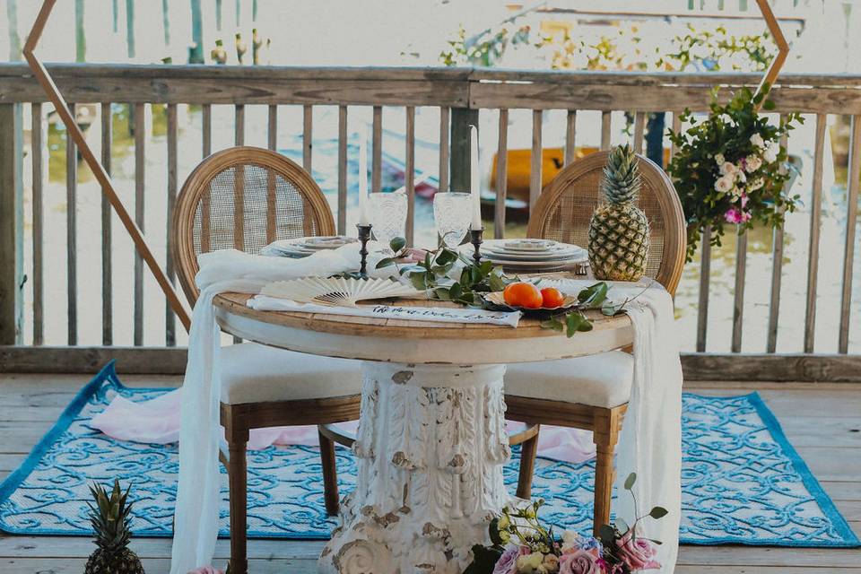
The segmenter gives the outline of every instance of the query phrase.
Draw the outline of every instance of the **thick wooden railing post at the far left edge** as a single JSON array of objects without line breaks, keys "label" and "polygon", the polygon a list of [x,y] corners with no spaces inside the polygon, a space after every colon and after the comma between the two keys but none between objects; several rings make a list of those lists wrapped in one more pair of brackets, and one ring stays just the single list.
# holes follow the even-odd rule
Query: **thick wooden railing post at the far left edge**
[{"label": "thick wooden railing post at the far left edge", "polygon": [[0,104],[0,344],[22,344],[22,105]]}]

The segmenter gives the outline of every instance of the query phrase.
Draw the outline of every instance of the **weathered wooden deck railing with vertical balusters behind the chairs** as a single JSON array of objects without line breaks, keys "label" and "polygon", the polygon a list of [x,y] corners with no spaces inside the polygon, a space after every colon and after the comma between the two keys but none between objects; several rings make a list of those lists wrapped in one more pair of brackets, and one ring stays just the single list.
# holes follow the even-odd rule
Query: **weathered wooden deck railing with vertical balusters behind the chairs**
[{"label": "weathered wooden deck railing with vertical balusters behind the chairs", "polygon": [[[595,142],[605,149],[613,135],[613,111],[630,112],[633,118],[631,141],[638,150],[643,139],[649,112],[665,111],[672,119],[674,129],[680,127],[679,112],[685,108],[708,109],[710,91],[716,84],[727,87],[723,92],[739,85],[755,86],[758,74],[639,74],[639,73],[567,73],[524,72],[466,68],[292,68],[292,67],[239,67],[239,66],[165,66],[165,65],[50,65],[50,73],[68,101],[77,104],[100,104],[101,160],[111,171],[111,114],[112,103],[124,103],[133,110],[135,148],[135,187],[133,211],[137,224],[143,229],[144,201],[152,194],[167,194],[165,221],[170,221],[170,209],[178,191],[178,104],[202,107],[201,157],[213,152],[213,105],[233,106],[234,143],[246,141],[246,109],[248,106],[267,107],[268,147],[274,149],[279,129],[279,106],[302,108],[302,161],[311,168],[311,142],[313,109],[315,106],[338,107],[337,152],[337,206],[335,218],[339,232],[347,228],[347,118],[351,107],[372,107],[371,189],[381,185],[381,142],[383,137],[383,107],[404,109],[404,166],[405,188],[409,198],[408,239],[413,239],[415,202],[415,111],[417,107],[439,109],[439,188],[465,188],[468,185],[469,154],[468,129],[479,114],[495,114],[499,118],[496,166],[496,206],[493,212],[493,235],[501,237],[506,229],[505,199],[508,166],[506,151],[509,146],[509,110],[532,110],[532,155],[529,180],[529,204],[543,187],[541,150],[543,116],[548,110],[565,112],[565,152],[567,164],[574,158],[576,146],[583,145],[578,138],[578,114],[585,110],[601,112],[600,138]],[[699,309],[696,328],[697,353],[686,357],[689,377],[743,377],[765,379],[856,379],[859,361],[856,356],[814,355],[813,335],[816,321],[818,281],[818,253],[820,242],[820,213],[822,209],[823,151],[825,148],[826,118],[829,114],[851,116],[851,143],[848,163],[848,213],[845,229],[843,274],[839,319],[839,353],[848,353],[848,333],[851,322],[851,298],[855,235],[857,219],[858,183],[861,178],[861,76],[846,75],[791,75],[781,76],[780,85],[772,91],[777,104],[775,113],[802,112],[813,114],[816,122],[813,202],[810,226],[810,250],[807,262],[807,297],[804,311],[803,352],[792,355],[770,353],[777,350],[780,288],[783,277],[783,230],[774,231],[773,267],[770,283],[770,314],[765,355],[739,356],[706,353],[709,312],[709,286],[711,250],[708,234],[704,238],[700,256]],[[102,295],[101,347],[76,348],[78,314],[79,269],[76,230],[77,178],[74,145],[65,148],[66,164],[66,224],[67,242],[67,336],[65,347],[39,349],[44,341],[44,276],[45,265],[63,265],[55,254],[48,254],[42,244],[44,233],[43,178],[47,161],[47,139],[44,133],[45,95],[24,65],[0,65],[0,370],[88,369],[109,356],[125,357],[131,370],[181,369],[181,352],[161,353],[161,361],[143,361],[142,357],[161,352],[159,349],[129,351],[112,347],[114,336],[111,267],[113,238],[110,228],[109,204],[102,201],[101,268]],[[167,117],[167,188],[147,186],[145,165],[145,106],[166,107]],[[22,115],[30,114],[30,145],[22,141]],[[617,126],[618,127],[618,126]],[[592,142],[588,142],[592,144]],[[22,229],[22,154],[30,154],[31,177],[31,236]],[[95,222],[87,222],[95,224]],[[149,237],[164,237],[166,229],[146,229]],[[23,268],[23,244],[31,243],[31,268]],[[165,255],[168,272],[173,276],[170,250]],[[742,350],[744,317],[744,285],[747,257],[747,237],[737,241],[735,259],[735,295],[732,329],[732,353]],[[93,270],[87,270],[93,276]],[[22,292],[24,275],[32,284],[32,313],[23,317]],[[144,270],[140,258],[135,259],[133,281],[133,343],[143,345]],[[88,288],[96,288],[89,285]],[[23,345],[23,322],[31,321],[32,338]],[[166,309],[165,346],[177,343],[175,317]],[[170,359],[165,357],[170,356]],[[53,364],[48,358],[53,358]],[[750,359],[750,360],[748,360]],[[751,362],[758,361],[758,362]],[[147,367],[144,363],[150,364]],[[747,372],[750,365],[768,365],[765,373]],[[179,367],[177,367],[179,366]],[[721,370],[721,371],[716,371]]]}]

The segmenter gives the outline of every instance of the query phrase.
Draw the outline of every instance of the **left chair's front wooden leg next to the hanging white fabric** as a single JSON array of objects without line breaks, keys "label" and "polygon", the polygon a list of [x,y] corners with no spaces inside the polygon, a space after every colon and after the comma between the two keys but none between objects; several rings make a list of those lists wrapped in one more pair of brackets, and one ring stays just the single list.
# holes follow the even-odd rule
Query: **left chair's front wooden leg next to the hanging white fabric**
[{"label": "left chair's front wooden leg next to the hanging white fabric", "polygon": [[248,429],[228,422],[230,461],[230,574],[248,574]]}]

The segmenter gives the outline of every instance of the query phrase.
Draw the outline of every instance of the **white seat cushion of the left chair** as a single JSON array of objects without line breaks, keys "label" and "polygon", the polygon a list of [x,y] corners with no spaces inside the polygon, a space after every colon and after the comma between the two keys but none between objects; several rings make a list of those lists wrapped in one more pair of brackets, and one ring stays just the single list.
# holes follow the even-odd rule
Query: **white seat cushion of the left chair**
[{"label": "white seat cushion of the left chair", "polygon": [[359,361],[242,343],[222,347],[222,403],[263,403],[357,395]]}]

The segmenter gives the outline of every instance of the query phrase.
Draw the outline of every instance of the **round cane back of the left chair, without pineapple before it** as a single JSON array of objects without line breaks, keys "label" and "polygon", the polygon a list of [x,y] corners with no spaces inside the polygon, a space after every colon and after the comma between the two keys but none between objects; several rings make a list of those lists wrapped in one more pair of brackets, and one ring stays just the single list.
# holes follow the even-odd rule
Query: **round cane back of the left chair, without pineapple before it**
[{"label": "round cane back of the left chair, without pineapple before it", "polygon": [[213,153],[191,172],[172,229],[179,283],[194,305],[201,253],[256,254],[276,239],[334,235],[335,219],[307,171],[280,153],[242,146]]}]

